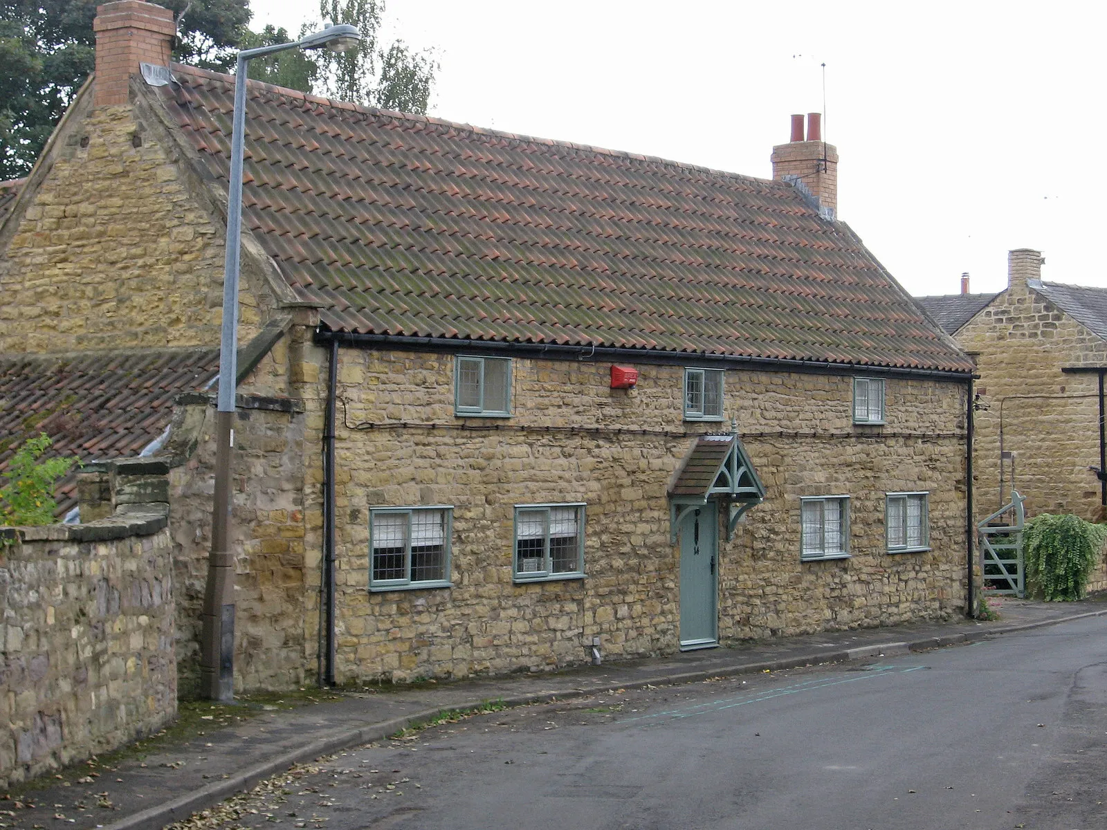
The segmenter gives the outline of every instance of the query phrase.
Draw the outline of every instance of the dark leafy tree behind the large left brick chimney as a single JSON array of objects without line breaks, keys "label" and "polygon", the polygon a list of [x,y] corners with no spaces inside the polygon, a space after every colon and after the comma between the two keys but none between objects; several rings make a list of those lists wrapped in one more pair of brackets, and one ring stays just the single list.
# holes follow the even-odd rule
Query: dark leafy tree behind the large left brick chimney
[{"label": "dark leafy tree behind the large left brick chimney", "polygon": [[[0,0],[0,180],[25,176],[95,65],[103,0]],[[226,71],[249,0],[161,0],[180,15],[174,59]]]}]

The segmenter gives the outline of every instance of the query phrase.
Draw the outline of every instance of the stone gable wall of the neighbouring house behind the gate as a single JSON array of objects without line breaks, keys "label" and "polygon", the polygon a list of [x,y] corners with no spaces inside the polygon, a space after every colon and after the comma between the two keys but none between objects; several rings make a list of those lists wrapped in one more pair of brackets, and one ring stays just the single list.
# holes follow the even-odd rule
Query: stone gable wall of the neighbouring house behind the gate
[{"label": "stone gable wall of the neighbouring house behind the gate", "polygon": [[1099,466],[1098,377],[1062,369],[1105,365],[1107,343],[1025,281],[996,297],[956,340],[976,357],[985,407],[975,418],[977,516],[1010,499],[1012,465],[1001,471],[1002,432],[1002,452],[1015,454],[1014,486],[1026,497],[1028,517],[1074,512],[1101,520],[1099,481],[1088,470]]}]

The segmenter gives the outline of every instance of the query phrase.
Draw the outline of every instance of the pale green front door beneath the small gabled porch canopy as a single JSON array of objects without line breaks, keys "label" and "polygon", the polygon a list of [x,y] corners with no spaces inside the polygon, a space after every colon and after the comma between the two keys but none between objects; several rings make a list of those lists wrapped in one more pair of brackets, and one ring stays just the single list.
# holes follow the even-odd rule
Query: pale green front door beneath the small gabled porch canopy
[{"label": "pale green front door beneath the small gabled porch canopy", "polygon": [[718,644],[715,608],[718,519],[708,502],[689,510],[681,523],[681,649]]}]

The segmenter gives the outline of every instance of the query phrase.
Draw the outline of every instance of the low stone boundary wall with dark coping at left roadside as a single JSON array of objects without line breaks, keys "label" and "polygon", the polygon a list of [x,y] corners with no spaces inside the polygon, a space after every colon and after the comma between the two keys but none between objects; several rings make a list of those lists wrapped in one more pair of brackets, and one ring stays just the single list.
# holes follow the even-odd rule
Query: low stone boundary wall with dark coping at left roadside
[{"label": "low stone boundary wall with dark coping at left roadside", "polygon": [[170,553],[164,510],[0,529],[0,787],[174,718]]}]

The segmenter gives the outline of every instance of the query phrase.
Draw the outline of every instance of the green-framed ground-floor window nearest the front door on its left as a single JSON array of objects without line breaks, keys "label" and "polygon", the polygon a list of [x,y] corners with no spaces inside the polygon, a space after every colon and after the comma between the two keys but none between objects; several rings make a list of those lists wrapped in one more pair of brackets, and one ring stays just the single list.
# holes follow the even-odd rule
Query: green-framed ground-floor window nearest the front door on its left
[{"label": "green-framed ground-floor window nearest the front door on its left", "polygon": [[583,578],[584,507],[583,502],[516,505],[511,579]]}]

